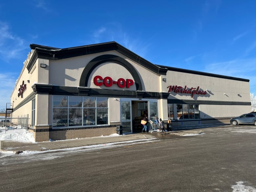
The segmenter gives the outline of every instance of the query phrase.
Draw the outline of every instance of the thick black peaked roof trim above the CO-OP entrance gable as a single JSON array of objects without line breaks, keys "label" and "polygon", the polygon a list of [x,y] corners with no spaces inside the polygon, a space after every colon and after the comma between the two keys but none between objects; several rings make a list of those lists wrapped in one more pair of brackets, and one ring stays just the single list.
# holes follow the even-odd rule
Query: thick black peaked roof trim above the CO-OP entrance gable
[{"label": "thick black peaked roof trim above the CO-OP entrance gable", "polygon": [[154,65],[153,63],[150,63],[146,59],[126,49],[125,47],[121,46],[115,41],[93,44],[93,45],[85,45],[85,46],[79,46],[79,47],[71,47],[71,48],[65,48],[65,49],[53,48],[48,46],[36,45],[36,44],[31,44],[30,47],[35,51],[27,66],[27,69],[29,72],[31,71],[32,66],[34,65],[37,58],[59,60],[59,59],[65,59],[70,57],[82,56],[82,55],[93,54],[93,53],[101,53],[101,52],[113,51],[113,50],[123,54],[124,56],[139,63],[140,65],[153,71],[156,74],[166,75],[168,71],[165,67],[162,68]]}]

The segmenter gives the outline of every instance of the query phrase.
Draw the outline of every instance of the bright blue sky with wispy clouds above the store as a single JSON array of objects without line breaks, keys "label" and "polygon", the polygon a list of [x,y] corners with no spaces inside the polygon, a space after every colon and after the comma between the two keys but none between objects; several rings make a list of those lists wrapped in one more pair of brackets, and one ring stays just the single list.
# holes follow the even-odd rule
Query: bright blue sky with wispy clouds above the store
[{"label": "bright blue sky with wispy clouds above the store", "polygon": [[253,0],[1,1],[0,109],[32,43],[116,41],[154,64],[250,79],[256,94],[255,8]]}]

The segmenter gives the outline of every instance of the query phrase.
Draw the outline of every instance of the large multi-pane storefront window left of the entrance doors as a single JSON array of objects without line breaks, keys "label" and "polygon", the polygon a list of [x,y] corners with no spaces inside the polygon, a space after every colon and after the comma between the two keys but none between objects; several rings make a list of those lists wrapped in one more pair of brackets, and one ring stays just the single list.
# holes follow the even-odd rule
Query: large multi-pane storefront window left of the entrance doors
[{"label": "large multi-pane storefront window left of the entrance doors", "polygon": [[108,98],[53,96],[53,127],[108,124]]}]

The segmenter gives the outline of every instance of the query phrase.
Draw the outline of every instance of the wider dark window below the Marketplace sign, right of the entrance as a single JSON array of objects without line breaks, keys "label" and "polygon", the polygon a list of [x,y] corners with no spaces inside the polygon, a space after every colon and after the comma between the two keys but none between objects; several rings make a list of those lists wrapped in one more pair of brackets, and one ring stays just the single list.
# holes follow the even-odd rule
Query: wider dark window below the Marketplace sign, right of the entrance
[{"label": "wider dark window below the Marketplace sign, right of the entrance", "polygon": [[179,120],[199,119],[199,105],[177,104],[177,117]]}]

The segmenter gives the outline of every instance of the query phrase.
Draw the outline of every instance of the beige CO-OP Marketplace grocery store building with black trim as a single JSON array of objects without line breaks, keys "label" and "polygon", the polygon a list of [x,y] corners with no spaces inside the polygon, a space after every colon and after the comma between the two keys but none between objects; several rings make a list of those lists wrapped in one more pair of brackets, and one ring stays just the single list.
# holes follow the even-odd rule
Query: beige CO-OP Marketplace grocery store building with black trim
[{"label": "beige CO-OP Marketplace grocery store building with black trim", "polygon": [[111,135],[118,126],[136,133],[145,114],[182,127],[251,111],[248,79],[155,65],[116,42],[30,48],[11,102],[13,115],[29,114],[35,141]]}]

